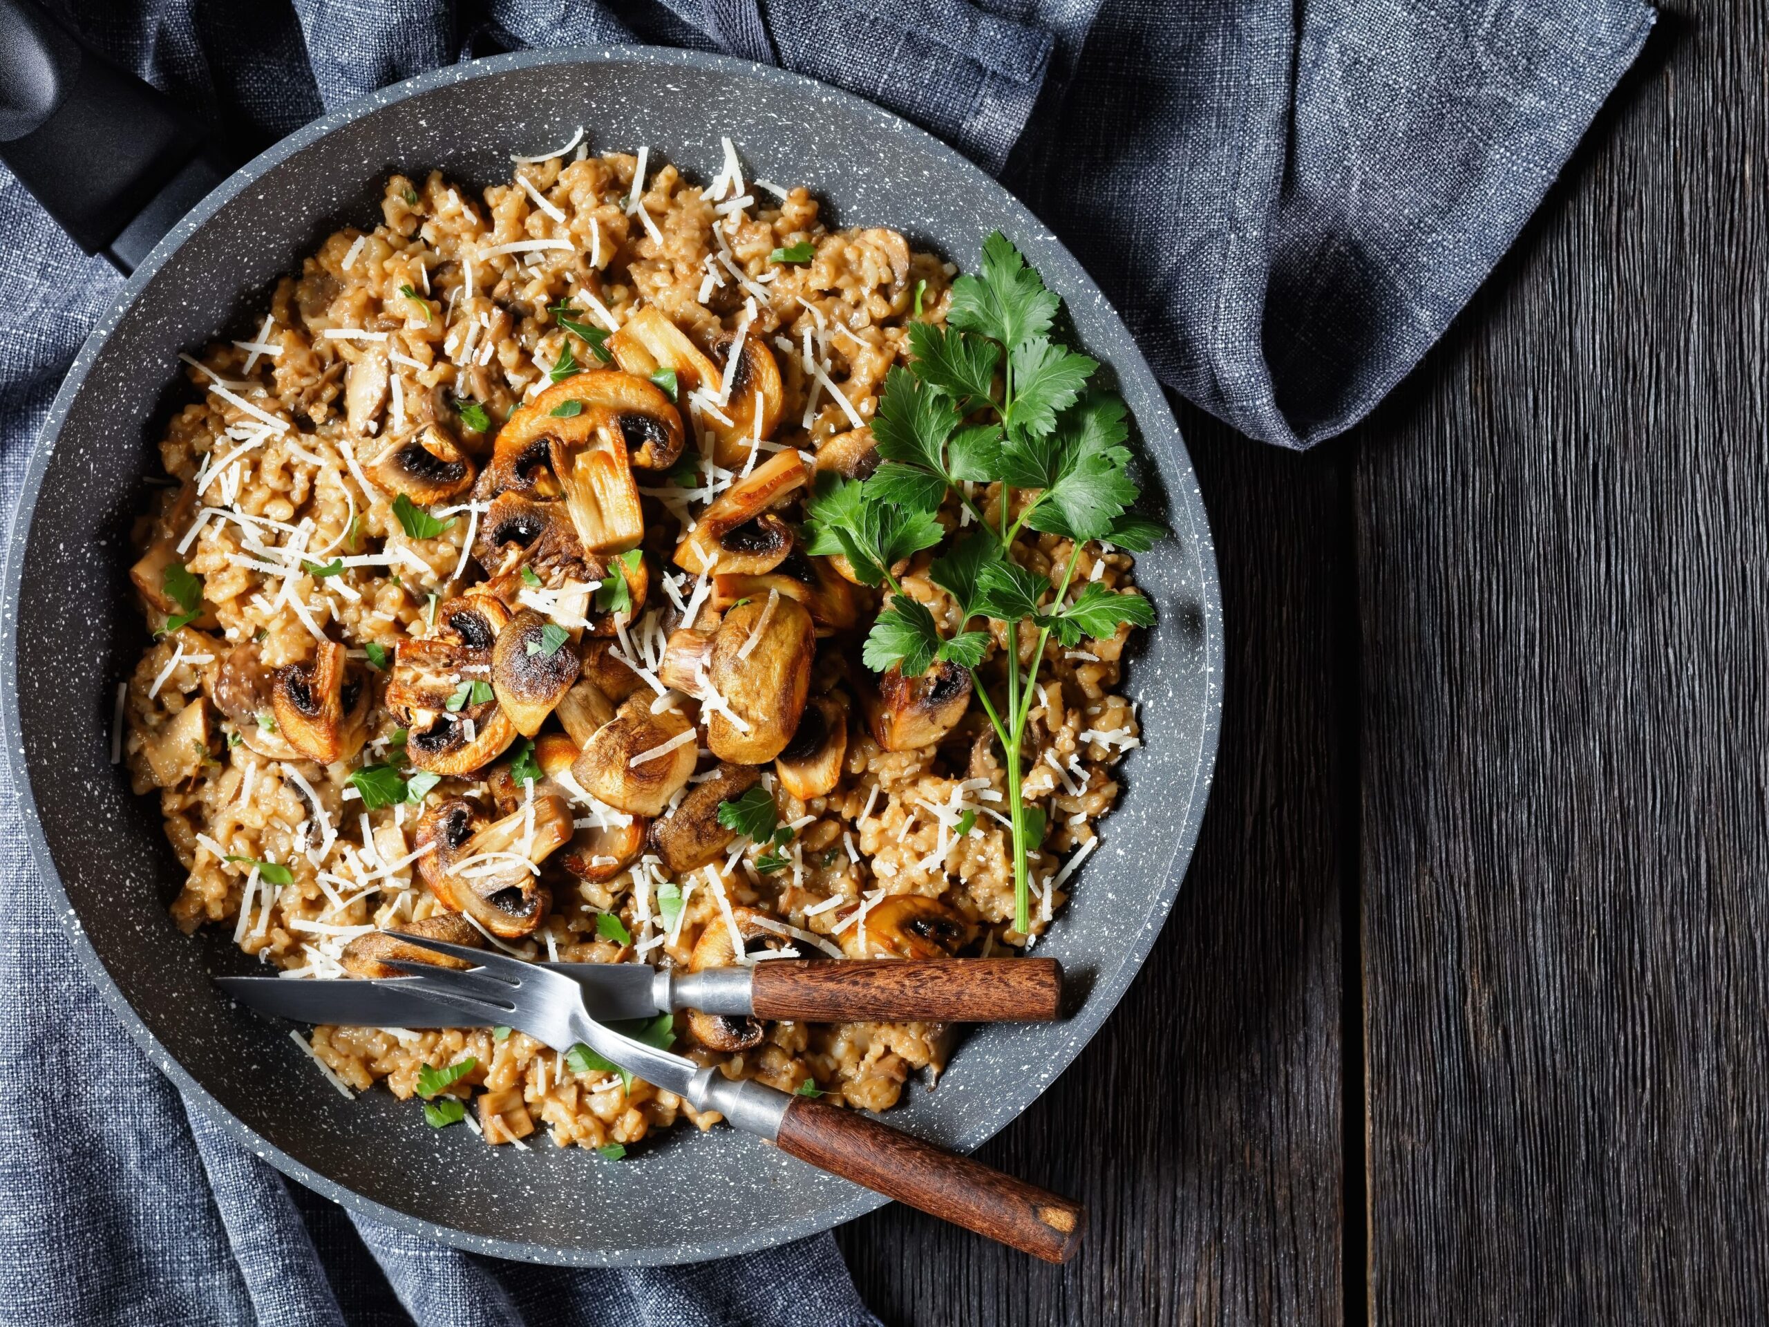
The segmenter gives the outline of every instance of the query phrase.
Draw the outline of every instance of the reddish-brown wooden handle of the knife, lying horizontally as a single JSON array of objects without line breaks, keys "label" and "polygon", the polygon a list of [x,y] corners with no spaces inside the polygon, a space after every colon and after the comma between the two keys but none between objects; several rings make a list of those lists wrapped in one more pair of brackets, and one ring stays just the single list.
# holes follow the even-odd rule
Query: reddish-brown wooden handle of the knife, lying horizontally
[{"label": "reddish-brown wooden handle of the knife, lying horizontally", "polygon": [[764,1019],[1049,1023],[1063,970],[1056,959],[775,959],[755,964],[750,989]]}]

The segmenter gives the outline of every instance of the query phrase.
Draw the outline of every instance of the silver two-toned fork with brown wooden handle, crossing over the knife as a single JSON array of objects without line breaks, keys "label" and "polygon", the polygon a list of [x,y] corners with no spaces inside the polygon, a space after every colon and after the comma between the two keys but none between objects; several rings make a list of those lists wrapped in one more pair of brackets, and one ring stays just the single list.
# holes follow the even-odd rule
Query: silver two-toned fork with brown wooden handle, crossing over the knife
[{"label": "silver two-toned fork with brown wooden handle, crossing over the knife", "polygon": [[[670,1051],[626,1037],[589,1016],[584,987],[570,977],[502,954],[440,940],[400,940],[476,964],[437,968],[389,959],[412,991],[478,1021],[520,1028],[555,1051],[587,1044],[616,1067],[718,1111],[743,1132],[886,1198],[952,1221],[992,1240],[1061,1263],[1074,1256],[1086,1210],[969,1157],[946,1152],[860,1111],[798,1097],[754,1079],[729,1079]],[[839,964],[831,964],[839,966]]]}]

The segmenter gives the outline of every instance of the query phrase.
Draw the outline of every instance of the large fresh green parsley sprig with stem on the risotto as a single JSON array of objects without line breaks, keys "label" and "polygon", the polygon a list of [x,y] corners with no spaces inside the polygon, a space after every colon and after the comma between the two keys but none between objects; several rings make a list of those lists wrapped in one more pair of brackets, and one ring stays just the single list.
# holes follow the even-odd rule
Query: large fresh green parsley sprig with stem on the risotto
[{"label": "large fresh green parsley sprig with stem on the risotto", "polygon": [[[1143,552],[1162,525],[1130,515],[1137,485],[1129,476],[1130,428],[1123,402],[1088,380],[1099,363],[1051,336],[1058,299],[999,232],[984,242],[980,274],[952,283],[946,326],[909,324],[907,370],[884,379],[872,435],[883,464],[865,481],[819,476],[808,504],[808,552],[847,557],[869,586],[892,598],[867,635],[869,669],[920,676],[936,662],[971,672],[989,724],[1007,754],[1007,802],[1014,826],[1014,925],[1031,922],[1028,855],[1044,839],[1044,810],[1021,796],[1026,720],[1037,695],[1044,649],[1054,635],[1072,648],[1109,637],[1120,623],[1148,626],[1153,605],[1141,594],[1088,582],[1068,598],[1081,548],[1109,541]],[[999,510],[984,511],[966,485],[999,485]],[[934,614],[902,593],[892,568],[945,541],[938,511],[946,494],[969,508],[975,529],[952,543],[929,577],[959,605],[959,628],[943,635]],[[1019,515],[1014,494],[1019,492]],[[1022,529],[1070,541],[1067,563],[1040,577],[1014,561]],[[980,667],[989,621],[1017,640],[1037,626],[1031,664],[1003,653],[1005,695],[991,697]]]}]

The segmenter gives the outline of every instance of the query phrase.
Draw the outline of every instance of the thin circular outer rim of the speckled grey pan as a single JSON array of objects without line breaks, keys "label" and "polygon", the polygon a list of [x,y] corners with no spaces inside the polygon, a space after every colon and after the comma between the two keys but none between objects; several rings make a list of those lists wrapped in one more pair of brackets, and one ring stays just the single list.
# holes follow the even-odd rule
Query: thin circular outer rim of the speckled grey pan
[{"label": "thin circular outer rim of the speckled grey pan", "polygon": [[[711,1258],[724,1258],[739,1253],[752,1253],[757,1249],[775,1247],[789,1240],[803,1239],[808,1235],[821,1233],[837,1224],[851,1221],[865,1212],[881,1207],[886,1200],[879,1194],[872,1194],[865,1189],[854,1189],[847,1201],[817,1208],[812,1214],[777,1224],[768,1230],[757,1230],[748,1235],[729,1235],[711,1240],[688,1239],[679,1244],[667,1247],[647,1247],[647,1249],[589,1249],[589,1247],[563,1247],[538,1244],[531,1240],[506,1240],[488,1235],[476,1235],[472,1231],[463,1231],[455,1226],[444,1226],[439,1223],[426,1221],[423,1217],[412,1216],[394,1207],[387,1207],[375,1198],[370,1198],[348,1185],[329,1178],[327,1175],[310,1168],[308,1164],[297,1161],[294,1155],[283,1148],[271,1143],[267,1138],[258,1134],[251,1125],[235,1116],[226,1106],[223,1106],[211,1092],[189,1072],[184,1065],[166,1049],[165,1044],[154,1035],[142,1016],[129,1003],[127,996],[122,993],[117,978],[111,977],[104,959],[99,955],[97,948],[87,938],[78,911],[74,909],[67,890],[62,883],[60,872],[55,865],[53,851],[48,842],[48,835],[42,830],[42,823],[37,812],[35,791],[32,787],[30,771],[25,764],[25,747],[23,747],[23,717],[19,706],[19,688],[18,688],[18,605],[19,605],[19,587],[25,570],[25,557],[30,543],[30,534],[34,529],[34,518],[37,510],[37,497],[42,488],[44,476],[50,467],[50,460],[55,453],[55,444],[60,435],[62,425],[85,386],[85,380],[108,341],[110,334],[117,329],[122,318],[134,308],[140,295],[145,292],[147,285],[154,276],[172,260],[172,257],[182,248],[182,244],[202,230],[228,202],[232,202],[239,193],[251,188],[264,173],[281,165],[297,152],[322,142],[338,129],[354,124],[389,104],[409,101],[419,97],[435,88],[453,87],[462,81],[494,78],[497,74],[522,71],[534,65],[554,65],[554,64],[586,64],[586,65],[617,65],[617,64],[649,64],[649,65],[681,65],[692,69],[704,69],[711,73],[720,73],[736,78],[757,80],[764,85],[777,85],[782,88],[793,88],[796,92],[808,92],[821,99],[833,99],[847,106],[851,113],[860,119],[869,120],[884,133],[909,134],[916,140],[918,147],[927,150],[936,157],[946,159],[957,170],[973,175],[980,184],[992,189],[992,205],[1003,216],[1017,223],[1019,230],[1030,237],[1035,237],[1037,248],[1040,249],[1040,262],[1056,258],[1065,267],[1063,271],[1063,288],[1060,294],[1065,299],[1072,299],[1076,294],[1091,294],[1097,297],[1097,315],[1106,322],[1106,329],[1120,341],[1118,354],[1113,359],[1113,368],[1122,379],[1137,379],[1145,395],[1157,403],[1160,409],[1168,409],[1164,391],[1155,380],[1146,359],[1137,349],[1134,338],[1125,327],[1123,320],[1118,317],[1116,310],[1106,301],[1099,292],[1099,287],[1088,276],[1086,269],[1074,258],[1067,246],[1058,241],[1051,230],[1038,221],[1038,218],[1017,198],[1014,198],[1005,188],[1001,188],[992,177],[982,172],[975,163],[966,159],[962,154],[945,145],[927,131],[909,124],[902,117],[870,103],[863,97],[853,96],[831,85],[821,83],[817,80],[807,78],[803,74],[794,74],[791,71],[775,69],[768,65],[757,65],[748,60],[739,60],[724,55],[711,55],[704,51],[688,51],[676,48],[658,48],[658,46],[633,46],[633,44],[610,44],[610,46],[589,46],[589,48],[547,48],[547,50],[529,50],[513,51],[508,55],[488,57],[483,60],[462,62],[455,65],[444,65],[430,73],[419,74],[416,78],[405,80],[402,83],[389,85],[364,97],[359,97],[334,111],[313,120],[308,126],[294,131],[278,143],[265,149],[262,154],[253,157],[249,163],[241,166],[234,175],[223,180],[212,193],[209,193],[188,216],[184,216],[177,226],[173,226],[147,260],[134,271],[134,274],[119,288],[117,297],[111,301],[104,315],[94,324],[90,336],[81,345],[67,375],[62,380],[60,389],[44,418],[37,437],[32,442],[30,458],[19,485],[18,506],[14,508],[14,520],[9,529],[5,545],[5,570],[4,580],[0,580],[0,688],[4,688],[4,704],[0,704],[0,734],[5,738],[7,747],[7,773],[12,779],[12,786],[18,796],[18,809],[25,823],[25,837],[30,849],[32,863],[37,867],[42,885],[48,888],[48,901],[51,909],[67,932],[71,947],[78,954],[85,970],[92,975],[94,986],[99,996],[119,1017],[129,1037],[142,1047],[147,1058],[165,1072],[173,1085],[179,1088],[188,1106],[195,1106],[209,1122],[216,1124],[235,1141],[242,1143],[257,1157],[271,1162],[276,1170],[288,1175],[290,1178],[301,1182],[302,1185],[320,1193],[322,1196],[340,1203],[347,1210],[363,1212],[364,1216],[389,1224],[405,1233],[421,1235],[425,1239],[439,1240],[460,1249],[472,1253],[481,1253],[497,1258],[509,1258],[518,1262],[534,1263],[554,1263],[554,1265],[580,1265],[580,1267],[635,1267],[635,1265],[672,1265],[672,1263],[692,1263],[704,1262]],[[1047,255],[1047,257],[1045,257]],[[1155,441],[1146,439],[1148,448],[1155,449]],[[1079,1040],[1076,1040],[1072,1053],[1061,1062],[1060,1067],[1047,1067],[1040,1074],[1028,1078],[1026,1086],[1021,1092],[1008,1093],[1007,1099],[1012,1102],[1012,1109],[998,1111],[998,1118],[992,1118],[985,1132],[980,1138],[966,1139],[964,1150],[980,1147],[984,1141],[992,1138],[996,1132],[1005,1129],[1008,1124],[1017,1120],[1038,1095],[1042,1095],[1054,1079],[1065,1072],[1086,1044],[1099,1033],[1106,1019],[1116,1010],[1120,1000],[1129,989],[1130,982],[1141,971],[1148,952],[1153,948],[1157,936],[1166,925],[1171,915],[1173,902],[1178,895],[1180,885],[1183,883],[1185,871],[1191,863],[1192,851],[1198,844],[1198,833],[1203,821],[1205,805],[1208,800],[1208,791],[1212,786],[1215,771],[1215,754],[1217,741],[1221,734],[1221,717],[1222,717],[1222,607],[1221,607],[1221,582],[1215,566],[1215,548],[1210,534],[1208,518],[1205,515],[1203,499],[1196,483],[1196,469],[1191,464],[1189,451],[1185,449],[1183,439],[1178,432],[1178,425],[1173,425],[1173,442],[1176,444],[1176,455],[1169,456],[1171,472],[1189,479],[1187,485],[1175,485],[1169,492],[1171,518],[1173,525],[1180,534],[1189,536],[1196,545],[1196,561],[1201,571],[1199,584],[1196,586],[1198,607],[1201,610],[1201,630],[1203,630],[1203,662],[1210,671],[1214,683],[1208,688],[1208,701],[1205,704],[1203,729],[1198,741],[1198,759],[1192,775],[1192,786],[1183,794],[1183,810],[1176,816],[1176,848],[1169,869],[1162,879],[1157,895],[1150,901],[1150,911],[1145,917],[1139,932],[1123,947],[1116,966],[1109,971],[1102,971],[1100,978],[1095,982],[1088,1005],[1077,1017],[1070,1019],[1072,1028],[1077,1030]],[[1160,439],[1166,444],[1166,439]],[[1176,796],[1175,802],[1180,798]],[[1054,1065],[1054,1060],[1053,1060]]]}]

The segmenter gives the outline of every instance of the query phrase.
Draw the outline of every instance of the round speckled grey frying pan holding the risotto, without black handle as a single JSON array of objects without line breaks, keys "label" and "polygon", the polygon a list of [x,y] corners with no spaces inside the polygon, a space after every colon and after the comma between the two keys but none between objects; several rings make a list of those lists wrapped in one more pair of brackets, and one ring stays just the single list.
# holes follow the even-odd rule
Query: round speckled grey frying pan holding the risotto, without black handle
[{"label": "round speckled grey frying pan holding the risotto, without black handle", "polygon": [[[621,1164],[593,1152],[485,1147],[433,1131],[386,1092],[345,1101],[281,1028],[230,1007],[211,970],[225,934],[166,918],[179,867],[157,803],[108,764],[111,697],[142,646],[126,598],[129,518],[157,471],[179,350],[242,318],[331,226],[377,219],[391,168],[504,180],[511,152],[584,126],[594,149],[711,177],[729,133],[754,175],[805,182],[840,223],[886,225],[973,265],[1001,228],[1063,295],[1081,343],[1136,414],[1150,510],[1175,538],[1137,563],[1160,625],[1129,674],[1145,748],[1074,901],[1042,947],[1084,994],[1065,1023],[991,1026],[897,1127],[973,1148],[1019,1115],[1099,1030],[1168,917],[1215,757],[1221,609],[1210,531],[1160,389],[1081,265],[989,177],[925,133],[819,83],[686,51],[532,51],[440,69],[329,115],[212,193],[134,272],[67,375],[7,547],[7,759],[44,888],[129,1033],[184,1093],[302,1184],[391,1224],[479,1253],[621,1265],[715,1258],[808,1235],[881,1198],[727,1129],[674,1131]],[[239,334],[239,333],[235,333]],[[19,586],[30,612],[16,612]],[[67,649],[78,640],[80,649]],[[96,648],[94,648],[96,646]],[[1076,1122],[1081,1127],[1083,1122]]]}]

